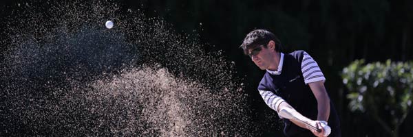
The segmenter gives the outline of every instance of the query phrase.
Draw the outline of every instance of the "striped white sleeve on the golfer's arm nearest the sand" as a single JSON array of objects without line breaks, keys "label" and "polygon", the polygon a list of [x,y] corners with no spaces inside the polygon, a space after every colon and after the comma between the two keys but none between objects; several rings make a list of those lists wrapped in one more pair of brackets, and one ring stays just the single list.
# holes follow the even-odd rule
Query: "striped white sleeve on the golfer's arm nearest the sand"
[{"label": "striped white sleeve on the golfer's arm nearest the sand", "polygon": [[[275,110],[278,113],[278,106],[280,103],[284,102],[284,99],[281,97],[278,97],[271,91],[266,91],[266,90],[258,90],[260,91],[260,95],[262,99],[264,99],[264,102],[270,107],[271,109]],[[279,116],[279,115],[278,115]],[[279,118],[282,119],[281,116]]]}]

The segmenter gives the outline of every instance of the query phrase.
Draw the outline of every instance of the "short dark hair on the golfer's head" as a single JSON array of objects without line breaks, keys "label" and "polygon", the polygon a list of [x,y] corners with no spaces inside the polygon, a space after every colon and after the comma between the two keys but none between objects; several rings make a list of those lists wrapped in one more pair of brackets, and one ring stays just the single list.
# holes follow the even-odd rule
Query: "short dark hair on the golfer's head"
[{"label": "short dark hair on the golfer's head", "polygon": [[270,40],[273,40],[275,42],[275,51],[281,52],[281,42],[278,40],[277,36],[266,29],[255,29],[246,34],[244,42],[242,42],[242,45],[240,47],[244,49],[245,54],[248,54],[248,49],[254,49],[255,47],[259,47],[260,45],[267,47],[267,44],[268,42],[270,42]]}]

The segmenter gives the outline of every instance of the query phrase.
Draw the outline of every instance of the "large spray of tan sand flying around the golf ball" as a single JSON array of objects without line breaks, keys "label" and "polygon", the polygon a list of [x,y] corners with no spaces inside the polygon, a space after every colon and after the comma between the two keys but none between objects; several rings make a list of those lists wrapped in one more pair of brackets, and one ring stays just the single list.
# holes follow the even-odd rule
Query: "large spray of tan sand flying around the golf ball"
[{"label": "large spray of tan sand flying around the golf ball", "polygon": [[106,1],[13,9],[0,41],[0,136],[257,135],[234,64],[196,36]]}]

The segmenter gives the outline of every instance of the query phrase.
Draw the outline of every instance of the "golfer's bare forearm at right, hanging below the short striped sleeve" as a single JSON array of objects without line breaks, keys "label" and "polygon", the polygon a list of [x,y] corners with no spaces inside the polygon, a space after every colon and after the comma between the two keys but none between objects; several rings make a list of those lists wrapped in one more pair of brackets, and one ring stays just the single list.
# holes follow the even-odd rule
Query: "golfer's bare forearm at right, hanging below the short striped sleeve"
[{"label": "golfer's bare forearm at right, hanging below the short striped sleeve", "polygon": [[317,120],[328,121],[330,116],[330,97],[328,97],[324,82],[313,82],[309,83],[308,86],[310,86],[315,99],[317,99]]}]

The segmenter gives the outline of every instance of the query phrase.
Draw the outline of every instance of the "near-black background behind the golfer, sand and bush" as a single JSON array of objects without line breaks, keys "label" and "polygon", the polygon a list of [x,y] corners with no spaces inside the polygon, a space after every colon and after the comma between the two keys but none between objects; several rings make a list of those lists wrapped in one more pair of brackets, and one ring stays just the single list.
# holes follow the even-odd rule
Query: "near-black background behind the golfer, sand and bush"
[{"label": "near-black background behind the golfer, sand and bush", "polygon": [[[1,16],[19,1],[2,0]],[[413,59],[413,1],[385,0],[272,0],[272,1],[128,1],[124,10],[140,9],[148,17],[160,17],[180,34],[199,34],[206,51],[224,51],[235,62],[237,75],[244,78],[251,95],[251,108],[258,123],[268,125],[261,132],[275,134],[279,127],[268,124],[266,115],[275,114],[262,101],[256,86],[260,71],[239,46],[255,28],[268,29],[282,41],[284,53],[305,50],[315,58],[326,76],[326,88],[335,103],[343,136],[387,136],[378,123],[348,110],[348,92],[342,84],[343,67],[357,59],[366,62]],[[1,27],[0,27],[1,28]],[[400,129],[411,136],[412,114]],[[273,122],[273,121],[270,121]]]}]

